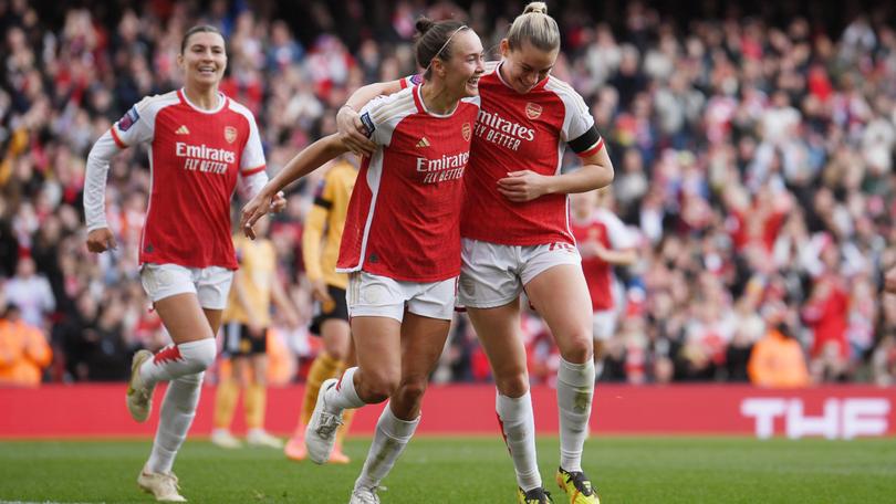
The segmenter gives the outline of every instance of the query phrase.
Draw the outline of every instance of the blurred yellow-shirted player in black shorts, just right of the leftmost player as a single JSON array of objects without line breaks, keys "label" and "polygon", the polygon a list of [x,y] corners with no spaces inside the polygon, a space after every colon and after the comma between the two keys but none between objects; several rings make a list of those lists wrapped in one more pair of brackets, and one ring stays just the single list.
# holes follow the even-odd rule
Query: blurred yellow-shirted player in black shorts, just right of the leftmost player
[{"label": "blurred yellow-shirted player in black shorts, just right of the leftmost player", "polygon": [[[265,237],[269,221],[259,222],[258,233]],[[233,237],[240,269],[233,275],[230,297],[221,316],[223,354],[231,366],[221,366],[215,396],[211,442],[221,448],[239,448],[240,440],[230,433],[240,389],[246,391],[246,442],[254,447],[282,448],[283,442],[264,430],[268,388],[268,327],[271,302],[289,325],[299,324],[292,306],[277,277],[277,252],[268,238],[249,240],[242,233]]]}]

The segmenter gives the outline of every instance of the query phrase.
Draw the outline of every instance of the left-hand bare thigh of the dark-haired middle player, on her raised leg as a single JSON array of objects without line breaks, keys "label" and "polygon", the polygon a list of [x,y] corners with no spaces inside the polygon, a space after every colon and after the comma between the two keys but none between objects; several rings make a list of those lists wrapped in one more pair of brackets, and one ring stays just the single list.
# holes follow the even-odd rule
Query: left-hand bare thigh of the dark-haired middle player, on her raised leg
[{"label": "left-hand bare thigh of the dark-haired middle player, on her raised leg", "polygon": [[385,316],[352,318],[357,367],[378,384],[393,384],[402,375],[402,323]]}]

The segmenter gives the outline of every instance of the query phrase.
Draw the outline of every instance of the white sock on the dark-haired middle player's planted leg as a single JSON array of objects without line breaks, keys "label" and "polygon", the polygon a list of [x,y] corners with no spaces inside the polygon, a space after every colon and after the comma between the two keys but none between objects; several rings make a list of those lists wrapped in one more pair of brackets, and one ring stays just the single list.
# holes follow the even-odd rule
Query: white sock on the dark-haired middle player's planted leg
[{"label": "white sock on the dark-haired middle player's planted leg", "polygon": [[355,489],[379,486],[379,482],[392,471],[395,461],[405,451],[405,447],[419,423],[420,417],[411,421],[397,418],[392,412],[392,406],[386,403],[383,414],[376,422],[376,433],[371,444],[371,451],[367,452],[364,468],[355,481]]}]

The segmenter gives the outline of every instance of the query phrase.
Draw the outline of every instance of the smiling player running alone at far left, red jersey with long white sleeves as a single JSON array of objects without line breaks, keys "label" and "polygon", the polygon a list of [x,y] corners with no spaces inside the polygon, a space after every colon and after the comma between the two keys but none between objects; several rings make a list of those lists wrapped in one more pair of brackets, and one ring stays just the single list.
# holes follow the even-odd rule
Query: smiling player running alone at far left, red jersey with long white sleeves
[{"label": "smiling player running alone at far left, red jersey with long white sleeves", "polygon": [[[264,154],[252,114],[218,92],[227,54],[221,33],[187,31],[177,55],[185,86],[134,105],[91,149],[84,186],[87,249],[116,246],[105,219],[112,157],[136,144],[149,148],[152,191],[140,239],[140,281],[174,343],[156,355],[134,355],[127,388],[131,416],[149,416],[153,390],[168,381],[149,460],[137,483],[158,501],[184,502],[174,459],[184,443],[215,334],[237,269],[230,239],[230,197],[238,179],[246,196],[264,186]],[[277,209],[282,196],[272,200]]]}]

